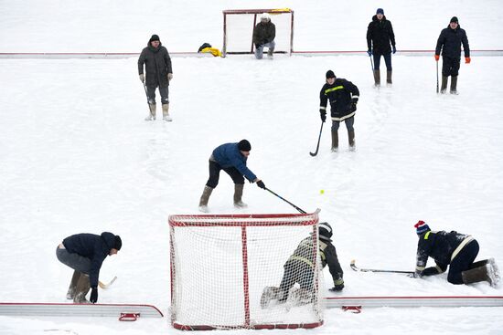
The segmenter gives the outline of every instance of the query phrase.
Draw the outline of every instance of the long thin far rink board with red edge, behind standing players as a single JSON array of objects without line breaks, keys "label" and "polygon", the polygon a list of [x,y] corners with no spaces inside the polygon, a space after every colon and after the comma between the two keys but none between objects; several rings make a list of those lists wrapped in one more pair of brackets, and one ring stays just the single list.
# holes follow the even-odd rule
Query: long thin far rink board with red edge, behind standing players
[{"label": "long thin far rink board with red edge, behind standing players", "polygon": [[[503,49],[494,50],[471,50],[470,56],[503,56]],[[210,54],[201,54],[198,52],[170,52],[170,56],[174,58],[213,58]],[[252,54],[232,55],[228,53],[227,57],[234,58],[237,56],[250,56]],[[365,56],[367,51],[293,51],[294,56]],[[433,57],[434,50],[399,50],[396,56],[423,56]],[[0,58],[137,58],[140,54],[136,52],[0,52]]]}]

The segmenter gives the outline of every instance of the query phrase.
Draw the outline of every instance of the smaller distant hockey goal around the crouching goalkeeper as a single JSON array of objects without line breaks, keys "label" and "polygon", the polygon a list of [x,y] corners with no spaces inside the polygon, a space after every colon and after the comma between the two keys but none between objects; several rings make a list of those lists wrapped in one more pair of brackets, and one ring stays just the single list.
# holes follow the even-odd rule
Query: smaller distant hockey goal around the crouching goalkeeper
[{"label": "smaller distant hockey goal around the crouching goalkeeper", "polygon": [[228,9],[223,11],[222,57],[227,54],[252,54],[253,28],[269,13],[276,26],[274,53],[292,55],[294,51],[294,11],[280,9]]}]

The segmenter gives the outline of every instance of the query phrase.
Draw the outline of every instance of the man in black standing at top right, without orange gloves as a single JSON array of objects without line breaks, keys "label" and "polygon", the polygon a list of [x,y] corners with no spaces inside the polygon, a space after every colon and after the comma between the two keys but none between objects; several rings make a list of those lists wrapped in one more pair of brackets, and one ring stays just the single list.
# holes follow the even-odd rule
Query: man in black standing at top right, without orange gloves
[{"label": "man in black standing at top right, without orange gloves", "polygon": [[[391,46],[390,46],[391,43]],[[375,16],[372,16],[372,22],[367,28],[367,47],[369,57],[374,57],[374,82],[375,86],[380,86],[380,57],[384,57],[386,63],[386,83],[391,85],[391,51],[394,54],[397,49],[395,47],[395,34],[391,21],[384,16],[384,10],[378,8]]]}]

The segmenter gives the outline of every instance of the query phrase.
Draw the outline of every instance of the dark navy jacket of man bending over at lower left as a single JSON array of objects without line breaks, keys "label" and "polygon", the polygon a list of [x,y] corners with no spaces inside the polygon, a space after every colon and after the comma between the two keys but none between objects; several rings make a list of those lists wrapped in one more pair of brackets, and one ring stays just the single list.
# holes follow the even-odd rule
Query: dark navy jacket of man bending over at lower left
[{"label": "dark navy jacket of man bending over at lower left", "polygon": [[94,234],[76,234],[63,240],[63,246],[70,254],[77,254],[91,259],[89,279],[91,288],[98,287],[100,268],[103,260],[110,254],[115,245],[115,236],[112,233],[103,232],[101,236]]}]

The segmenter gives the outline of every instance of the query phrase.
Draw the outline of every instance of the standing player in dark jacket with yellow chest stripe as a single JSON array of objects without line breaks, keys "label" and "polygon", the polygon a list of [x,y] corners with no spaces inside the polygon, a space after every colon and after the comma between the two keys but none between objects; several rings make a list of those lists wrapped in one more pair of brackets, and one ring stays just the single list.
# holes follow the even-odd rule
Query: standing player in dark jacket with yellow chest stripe
[{"label": "standing player in dark jacket with yellow chest stripe", "polygon": [[355,149],[355,112],[359,100],[359,89],[346,79],[336,78],[334,71],[326,71],[326,83],[319,93],[320,117],[326,120],[326,104],[330,101],[330,115],[332,117],[332,152],[338,150],[338,127],[341,121],[348,129],[349,149]]}]

